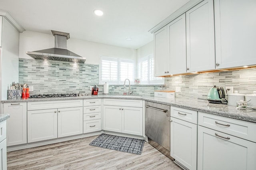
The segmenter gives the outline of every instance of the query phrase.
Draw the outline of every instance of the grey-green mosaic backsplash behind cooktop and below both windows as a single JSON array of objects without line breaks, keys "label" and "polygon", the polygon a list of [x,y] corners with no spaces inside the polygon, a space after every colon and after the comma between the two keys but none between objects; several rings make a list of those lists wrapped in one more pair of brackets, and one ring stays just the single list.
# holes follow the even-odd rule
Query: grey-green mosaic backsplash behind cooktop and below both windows
[{"label": "grey-green mosaic backsplash behind cooktop and below both windows", "polygon": [[[19,59],[19,83],[33,86],[30,95],[49,93],[85,93],[90,94],[90,86],[99,87],[98,94],[103,94],[103,85],[99,83],[99,65],[71,63],[65,61],[43,61]],[[122,94],[123,85],[109,85],[109,93]],[[131,85],[135,95],[154,96],[154,90],[164,86]],[[128,86],[126,87],[128,92]]]}]

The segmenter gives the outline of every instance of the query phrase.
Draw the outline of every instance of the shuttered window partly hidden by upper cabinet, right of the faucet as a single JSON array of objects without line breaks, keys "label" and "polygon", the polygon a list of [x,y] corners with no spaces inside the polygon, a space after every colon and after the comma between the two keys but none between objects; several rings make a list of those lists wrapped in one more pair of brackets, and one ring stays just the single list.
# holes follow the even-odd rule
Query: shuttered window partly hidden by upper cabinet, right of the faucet
[{"label": "shuttered window partly hidden by upper cabinet, right of the faucet", "polygon": [[142,84],[164,84],[164,78],[154,77],[154,57],[149,55],[138,61],[138,77]]}]

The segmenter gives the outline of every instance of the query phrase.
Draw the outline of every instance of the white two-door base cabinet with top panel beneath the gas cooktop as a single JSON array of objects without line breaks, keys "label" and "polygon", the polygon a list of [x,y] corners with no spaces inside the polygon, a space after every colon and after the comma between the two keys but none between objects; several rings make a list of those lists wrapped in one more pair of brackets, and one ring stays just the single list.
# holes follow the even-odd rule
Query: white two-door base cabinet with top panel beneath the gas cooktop
[{"label": "white two-door base cabinet with top panel beneath the gas cooktop", "polygon": [[83,133],[83,100],[28,102],[28,143]]}]

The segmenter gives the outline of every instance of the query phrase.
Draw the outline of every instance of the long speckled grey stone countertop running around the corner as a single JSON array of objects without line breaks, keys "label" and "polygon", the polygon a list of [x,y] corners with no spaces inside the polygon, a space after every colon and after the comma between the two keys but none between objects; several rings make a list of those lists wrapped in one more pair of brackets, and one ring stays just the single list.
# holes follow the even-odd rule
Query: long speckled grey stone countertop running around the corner
[{"label": "long speckled grey stone countertop running around the corner", "polygon": [[256,123],[256,110],[252,109],[236,109],[234,106],[228,106],[226,104],[209,103],[206,99],[182,99],[175,98],[175,101],[171,101],[166,98],[150,97],[150,96],[115,96],[115,95],[89,95],[83,97],[56,97],[56,98],[44,98],[44,99],[20,99],[20,100],[5,100],[2,103],[15,103],[15,102],[34,102],[34,101],[60,101],[60,100],[73,100],[73,99],[134,99],[151,101],[155,103],[161,103],[164,105],[170,105],[180,107],[184,109],[190,109],[194,111],[200,111],[204,113],[210,113],[213,115],[220,115],[224,117],[230,117],[243,121],[249,121]]}]

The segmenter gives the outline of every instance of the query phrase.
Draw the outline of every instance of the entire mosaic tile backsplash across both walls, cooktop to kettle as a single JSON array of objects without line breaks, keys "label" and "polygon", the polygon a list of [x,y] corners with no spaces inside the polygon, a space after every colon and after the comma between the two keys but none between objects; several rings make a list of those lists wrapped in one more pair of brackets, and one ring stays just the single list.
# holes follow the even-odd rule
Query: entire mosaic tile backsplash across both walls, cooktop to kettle
[{"label": "entire mosaic tile backsplash across both walls, cooktop to kettle", "polygon": [[[223,71],[196,75],[166,77],[165,85],[131,85],[135,95],[154,96],[154,90],[175,90],[181,87],[176,97],[186,99],[206,99],[213,85],[232,86],[234,91],[250,94],[256,91],[256,69]],[[99,82],[99,65],[70,63],[64,61],[41,61],[19,59],[19,83],[34,86],[33,94],[85,93],[90,94],[90,86]],[[103,85],[98,85],[103,94]],[[109,85],[109,93],[122,94],[123,85]],[[128,86],[126,86],[128,92]]]}]

